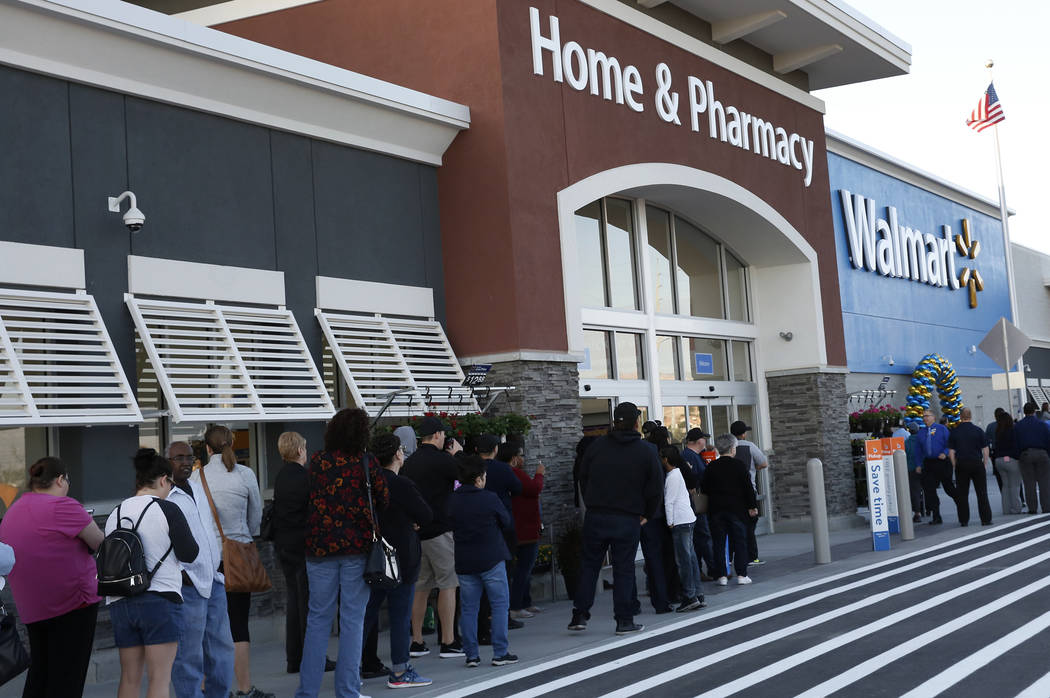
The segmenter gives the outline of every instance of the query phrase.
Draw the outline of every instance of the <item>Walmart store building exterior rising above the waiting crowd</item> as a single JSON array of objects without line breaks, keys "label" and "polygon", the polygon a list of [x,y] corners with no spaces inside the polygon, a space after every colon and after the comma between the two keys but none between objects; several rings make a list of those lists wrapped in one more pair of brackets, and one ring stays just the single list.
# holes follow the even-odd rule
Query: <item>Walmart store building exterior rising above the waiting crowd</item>
[{"label": "Walmart store building exterior rising above the waiting crowd", "polygon": [[[57,453],[104,509],[139,443],[223,422],[266,490],[281,430],[317,447],[334,409],[376,414],[391,389],[408,396],[398,419],[438,395],[474,408],[454,386],[489,363],[517,388],[494,409],[533,421],[548,523],[573,515],[576,441],[631,400],[678,437],[754,425],[774,453],[764,526],[801,529],[810,458],[835,520],[857,519],[852,394],[888,376],[903,403],[939,352],[985,418],[1005,404],[969,351],[1013,318],[998,209],[825,136],[811,90],[910,60],[839,3],[141,4],[176,16],[0,4],[24,37],[0,54],[14,488]],[[124,190],[138,233],[105,208]],[[918,280],[904,228],[930,251]],[[85,341],[74,312],[98,345],[63,373]],[[98,380],[78,382],[88,365]]]}]

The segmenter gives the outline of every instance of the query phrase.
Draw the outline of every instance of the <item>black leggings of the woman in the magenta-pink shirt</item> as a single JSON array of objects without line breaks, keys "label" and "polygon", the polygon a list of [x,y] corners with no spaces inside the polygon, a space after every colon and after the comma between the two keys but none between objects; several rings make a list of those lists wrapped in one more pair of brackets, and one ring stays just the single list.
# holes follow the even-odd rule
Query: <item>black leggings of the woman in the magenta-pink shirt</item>
[{"label": "black leggings of the woman in the magenta-pink shirt", "polygon": [[84,693],[99,605],[26,623],[29,672],[22,698],[69,698]]}]

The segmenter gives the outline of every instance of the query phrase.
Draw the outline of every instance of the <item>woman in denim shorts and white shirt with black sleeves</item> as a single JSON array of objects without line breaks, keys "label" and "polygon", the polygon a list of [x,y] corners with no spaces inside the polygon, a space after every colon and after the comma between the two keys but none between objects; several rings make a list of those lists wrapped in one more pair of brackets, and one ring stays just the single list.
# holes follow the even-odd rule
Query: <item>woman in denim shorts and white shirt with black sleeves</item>
[{"label": "woman in denim shorts and white shirt with black sleeves", "polygon": [[168,459],[152,448],[139,449],[134,483],[134,495],[121,502],[106,520],[106,535],[118,528],[134,528],[142,541],[146,568],[151,571],[144,593],[106,597],[121,658],[117,696],[138,698],[145,671],[147,698],[168,698],[171,665],[183,629],[178,560],[192,563],[198,548],[183,510],[166,499],[174,485]]}]

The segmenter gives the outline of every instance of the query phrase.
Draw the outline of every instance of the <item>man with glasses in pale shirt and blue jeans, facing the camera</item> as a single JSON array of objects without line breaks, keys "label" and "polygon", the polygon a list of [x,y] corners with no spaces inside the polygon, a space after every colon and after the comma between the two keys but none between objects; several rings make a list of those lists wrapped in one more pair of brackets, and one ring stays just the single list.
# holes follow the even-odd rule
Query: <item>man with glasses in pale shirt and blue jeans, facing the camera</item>
[{"label": "man with glasses in pale shirt and blue jeans, facing the camera", "polygon": [[[226,612],[226,584],[215,521],[201,483],[191,482],[193,450],[185,441],[168,446],[173,481],[168,500],[178,505],[200,553],[183,565],[183,631],[171,668],[176,698],[227,698],[233,683],[233,636]],[[204,682],[204,691],[201,683]]]}]

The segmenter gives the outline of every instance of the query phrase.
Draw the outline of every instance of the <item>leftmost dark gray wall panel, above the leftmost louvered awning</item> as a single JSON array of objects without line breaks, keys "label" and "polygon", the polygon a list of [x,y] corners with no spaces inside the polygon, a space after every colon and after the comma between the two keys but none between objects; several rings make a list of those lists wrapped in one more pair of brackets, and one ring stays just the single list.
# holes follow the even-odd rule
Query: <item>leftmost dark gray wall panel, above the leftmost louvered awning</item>
[{"label": "leftmost dark gray wall panel, above the leftmost louvered awning", "polygon": [[68,92],[0,66],[0,239],[72,247]]}]

